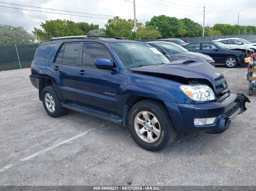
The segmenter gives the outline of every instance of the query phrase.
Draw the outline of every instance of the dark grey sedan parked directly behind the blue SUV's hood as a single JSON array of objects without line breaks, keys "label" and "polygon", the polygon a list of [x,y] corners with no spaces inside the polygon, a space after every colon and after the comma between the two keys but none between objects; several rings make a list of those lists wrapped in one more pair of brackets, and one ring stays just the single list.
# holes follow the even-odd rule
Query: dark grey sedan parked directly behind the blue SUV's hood
[{"label": "dark grey sedan parked directly behind the blue SUV's hood", "polygon": [[201,53],[189,52],[185,48],[175,43],[164,42],[164,41],[155,41],[155,42],[147,42],[147,43],[150,44],[151,46],[154,46],[164,55],[169,55],[168,58],[170,61],[199,57],[204,59],[206,62],[209,62],[211,65],[215,67],[215,61],[210,56],[204,55]]}]

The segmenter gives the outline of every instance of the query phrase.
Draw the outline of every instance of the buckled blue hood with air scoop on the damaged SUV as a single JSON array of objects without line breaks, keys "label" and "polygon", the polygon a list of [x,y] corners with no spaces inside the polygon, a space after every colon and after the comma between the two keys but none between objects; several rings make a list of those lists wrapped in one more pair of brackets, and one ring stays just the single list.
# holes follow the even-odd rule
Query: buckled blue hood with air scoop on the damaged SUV
[{"label": "buckled blue hood with air scoop on the damaged SUV", "polygon": [[210,64],[205,64],[205,61],[201,58],[183,59],[162,65],[141,66],[129,68],[129,70],[145,74],[165,74],[184,78],[207,79],[213,84],[213,87],[215,87],[214,79],[223,77],[223,74],[218,69]]}]

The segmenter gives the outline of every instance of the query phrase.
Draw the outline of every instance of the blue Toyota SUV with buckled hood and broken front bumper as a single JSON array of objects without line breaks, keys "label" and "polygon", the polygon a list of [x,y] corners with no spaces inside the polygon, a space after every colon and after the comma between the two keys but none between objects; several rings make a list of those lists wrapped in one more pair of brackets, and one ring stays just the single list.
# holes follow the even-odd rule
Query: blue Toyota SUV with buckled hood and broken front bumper
[{"label": "blue Toyota SUV with buckled hood and broken front bumper", "polygon": [[170,62],[155,47],[118,38],[59,37],[38,45],[30,80],[48,115],[67,109],[128,126],[158,151],[177,132],[218,134],[250,100],[201,58]]}]

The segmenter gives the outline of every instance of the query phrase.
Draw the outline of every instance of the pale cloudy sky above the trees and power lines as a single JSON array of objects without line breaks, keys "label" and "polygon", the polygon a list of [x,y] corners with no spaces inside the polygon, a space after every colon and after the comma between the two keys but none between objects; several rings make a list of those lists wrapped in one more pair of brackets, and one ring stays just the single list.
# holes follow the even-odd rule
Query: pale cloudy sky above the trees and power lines
[{"label": "pale cloudy sky above the trees and power lines", "polygon": [[[204,4],[205,26],[216,23],[238,24],[238,12],[239,25],[256,26],[255,6],[251,6],[253,3],[249,0],[135,0],[136,19],[145,24],[153,16],[165,14],[179,19],[190,18],[203,25]],[[32,33],[34,27],[41,28],[42,22],[55,19],[94,23],[104,28],[108,19],[114,16],[133,19],[133,0],[0,0],[0,24],[21,26],[29,33]]]}]

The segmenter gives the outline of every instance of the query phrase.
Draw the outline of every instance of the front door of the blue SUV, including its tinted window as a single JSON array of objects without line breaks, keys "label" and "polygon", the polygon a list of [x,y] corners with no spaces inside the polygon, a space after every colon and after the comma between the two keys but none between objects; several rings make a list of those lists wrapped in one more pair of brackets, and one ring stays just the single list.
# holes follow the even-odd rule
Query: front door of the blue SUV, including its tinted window
[{"label": "front door of the blue SUV, including its tinted window", "polygon": [[95,68],[95,59],[114,58],[99,43],[84,43],[81,66],[77,68],[78,102],[117,112],[119,73]]}]

